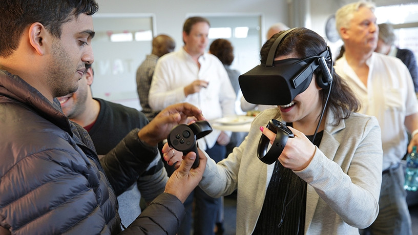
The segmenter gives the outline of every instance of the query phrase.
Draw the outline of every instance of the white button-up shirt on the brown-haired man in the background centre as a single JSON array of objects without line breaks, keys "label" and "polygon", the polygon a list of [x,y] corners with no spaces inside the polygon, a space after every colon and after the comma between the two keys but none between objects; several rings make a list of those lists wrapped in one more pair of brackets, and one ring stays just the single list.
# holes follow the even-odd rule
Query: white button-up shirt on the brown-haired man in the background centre
[{"label": "white button-up shirt on the brown-haired man in the background centre", "polygon": [[[162,56],[155,67],[151,82],[149,103],[154,110],[180,102],[189,102],[202,110],[207,120],[235,115],[235,91],[221,61],[204,53],[198,59],[200,69],[184,48]],[[208,81],[207,88],[199,93],[184,95],[184,87],[194,80]],[[213,147],[220,131],[213,130],[199,147]],[[231,136],[231,133],[227,133]]]}]

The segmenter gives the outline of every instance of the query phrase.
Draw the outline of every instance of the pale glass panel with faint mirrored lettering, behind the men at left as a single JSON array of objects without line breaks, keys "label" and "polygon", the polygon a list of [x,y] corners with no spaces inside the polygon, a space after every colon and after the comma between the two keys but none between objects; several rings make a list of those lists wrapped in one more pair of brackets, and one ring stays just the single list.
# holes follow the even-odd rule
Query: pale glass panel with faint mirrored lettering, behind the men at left
[{"label": "pale glass panel with faint mirrored lettering, behind the men at left", "polygon": [[141,110],[136,69],[152,50],[152,15],[93,16],[94,97]]}]

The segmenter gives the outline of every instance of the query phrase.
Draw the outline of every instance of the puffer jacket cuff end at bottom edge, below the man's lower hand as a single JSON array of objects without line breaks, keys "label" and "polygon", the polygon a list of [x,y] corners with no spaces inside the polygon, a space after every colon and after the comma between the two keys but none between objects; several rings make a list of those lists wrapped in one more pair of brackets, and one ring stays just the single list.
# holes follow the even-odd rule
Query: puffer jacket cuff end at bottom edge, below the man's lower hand
[{"label": "puffer jacket cuff end at bottom edge, below the man's lower hand", "polygon": [[174,195],[160,194],[121,234],[176,234],[185,215]]}]

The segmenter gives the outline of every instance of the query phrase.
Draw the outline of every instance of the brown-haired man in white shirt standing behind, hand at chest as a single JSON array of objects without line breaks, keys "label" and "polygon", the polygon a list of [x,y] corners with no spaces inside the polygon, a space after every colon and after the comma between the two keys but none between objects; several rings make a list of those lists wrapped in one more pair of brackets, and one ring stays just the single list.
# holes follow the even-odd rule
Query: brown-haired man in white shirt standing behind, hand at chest
[{"label": "brown-haired man in white shirt standing behind, hand at chest", "polygon": [[[207,120],[235,115],[236,95],[228,74],[216,56],[205,52],[209,28],[210,23],[203,17],[186,19],[183,25],[184,47],[162,56],[155,67],[149,93],[153,110],[189,102],[198,106]],[[205,149],[218,162],[225,156],[225,145],[230,137],[231,132],[214,129],[211,134],[198,140],[199,148]],[[194,232],[212,234],[221,200],[207,196],[199,187],[194,194]],[[191,223],[188,218],[184,221]],[[189,232],[190,225],[182,225],[179,234]]]}]

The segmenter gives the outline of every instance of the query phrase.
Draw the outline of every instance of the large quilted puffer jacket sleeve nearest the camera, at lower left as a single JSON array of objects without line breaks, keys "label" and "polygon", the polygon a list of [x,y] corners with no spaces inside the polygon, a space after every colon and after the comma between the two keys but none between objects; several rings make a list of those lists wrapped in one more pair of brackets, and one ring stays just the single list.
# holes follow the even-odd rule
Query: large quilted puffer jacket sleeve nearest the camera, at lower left
[{"label": "large quilted puffer jacket sleeve nearest the camera, at lower left", "polygon": [[0,107],[7,111],[0,121],[7,133],[0,135],[0,225],[13,234],[118,232],[115,195],[82,151],[87,146],[20,103]]}]

